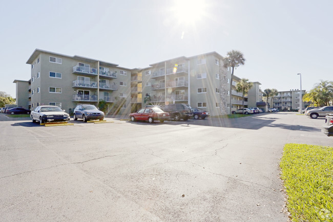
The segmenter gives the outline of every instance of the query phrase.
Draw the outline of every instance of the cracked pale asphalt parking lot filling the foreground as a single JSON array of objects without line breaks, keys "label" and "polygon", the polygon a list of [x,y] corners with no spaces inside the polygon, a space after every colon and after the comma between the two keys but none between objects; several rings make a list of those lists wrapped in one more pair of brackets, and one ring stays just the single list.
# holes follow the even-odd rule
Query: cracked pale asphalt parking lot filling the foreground
[{"label": "cracked pale asphalt parking lot filling the foreground", "polygon": [[263,113],[44,127],[0,114],[1,221],[287,221],[283,145],[324,118]]}]

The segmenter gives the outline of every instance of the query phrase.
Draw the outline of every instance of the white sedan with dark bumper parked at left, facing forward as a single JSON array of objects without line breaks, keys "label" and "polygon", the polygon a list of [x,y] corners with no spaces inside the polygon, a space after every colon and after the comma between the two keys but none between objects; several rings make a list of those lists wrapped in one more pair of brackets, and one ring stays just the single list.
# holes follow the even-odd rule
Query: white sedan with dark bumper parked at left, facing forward
[{"label": "white sedan with dark bumper parked at left, facing forward", "polygon": [[46,122],[69,121],[68,113],[57,106],[37,106],[33,111],[31,111],[30,117],[33,123],[38,121],[41,124]]}]

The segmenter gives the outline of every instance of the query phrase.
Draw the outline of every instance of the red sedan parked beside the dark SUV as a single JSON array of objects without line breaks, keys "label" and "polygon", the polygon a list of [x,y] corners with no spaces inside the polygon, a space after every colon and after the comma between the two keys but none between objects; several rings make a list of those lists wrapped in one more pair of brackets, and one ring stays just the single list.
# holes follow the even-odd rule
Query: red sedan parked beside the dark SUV
[{"label": "red sedan parked beside the dark SUV", "polygon": [[149,123],[154,123],[155,120],[159,120],[159,122],[163,123],[164,120],[168,120],[169,118],[169,113],[164,112],[157,107],[142,108],[136,113],[130,114],[130,119],[132,122],[136,120],[148,120]]}]

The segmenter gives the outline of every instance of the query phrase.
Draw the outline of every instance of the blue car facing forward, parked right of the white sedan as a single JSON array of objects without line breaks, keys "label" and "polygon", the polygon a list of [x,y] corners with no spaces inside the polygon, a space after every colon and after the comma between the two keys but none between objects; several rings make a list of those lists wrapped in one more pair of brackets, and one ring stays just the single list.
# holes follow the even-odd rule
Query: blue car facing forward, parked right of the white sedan
[{"label": "blue car facing forward, parked right of the white sedan", "polygon": [[103,120],[104,113],[98,110],[94,105],[82,104],[77,105],[73,111],[73,119],[77,120],[78,118],[82,118],[84,122],[96,119]]}]

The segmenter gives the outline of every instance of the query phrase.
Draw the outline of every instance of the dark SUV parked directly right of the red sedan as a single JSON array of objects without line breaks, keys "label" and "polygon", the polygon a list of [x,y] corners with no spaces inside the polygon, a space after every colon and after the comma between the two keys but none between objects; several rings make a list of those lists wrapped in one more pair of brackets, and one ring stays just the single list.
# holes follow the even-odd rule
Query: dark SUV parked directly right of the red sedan
[{"label": "dark SUV parked directly right of the red sedan", "polygon": [[188,120],[192,117],[192,107],[190,105],[185,104],[169,104],[165,105],[161,108],[164,112],[168,112],[170,114],[170,118],[179,121],[183,119],[184,121]]}]

